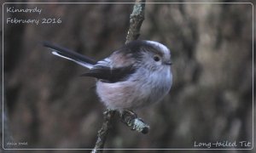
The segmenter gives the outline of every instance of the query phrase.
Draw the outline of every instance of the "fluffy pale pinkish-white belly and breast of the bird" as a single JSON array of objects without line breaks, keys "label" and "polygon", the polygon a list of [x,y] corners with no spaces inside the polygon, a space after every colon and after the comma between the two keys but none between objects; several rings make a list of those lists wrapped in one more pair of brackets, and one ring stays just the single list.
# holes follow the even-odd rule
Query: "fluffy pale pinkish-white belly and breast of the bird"
[{"label": "fluffy pale pinkish-white belly and breast of the bird", "polygon": [[[169,76],[169,75],[167,75]],[[170,90],[172,78],[96,83],[96,92],[108,109],[136,109],[158,102]],[[151,80],[151,81],[148,81]]]}]

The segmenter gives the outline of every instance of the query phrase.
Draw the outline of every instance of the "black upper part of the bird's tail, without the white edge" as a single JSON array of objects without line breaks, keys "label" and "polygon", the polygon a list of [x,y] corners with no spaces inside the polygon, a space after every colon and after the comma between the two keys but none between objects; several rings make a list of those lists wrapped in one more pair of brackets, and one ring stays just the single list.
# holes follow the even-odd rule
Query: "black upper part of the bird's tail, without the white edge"
[{"label": "black upper part of the bird's tail, without the white edge", "polygon": [[55,52],[58,54],[61,54],[63,56],[66,56],[71,59],[77,59],[79,61],[84,61],[85,63],[90,63],[91,65],[96,64],[96,60],[90,59],[88,57],[85,57],[83,54],[79,54],[77,52],[71,51],[67,48],[62,48],[61,46],[58,46],[56,44],[50,43],[50,42],[43,42],[44,47],[54,49]]}]

